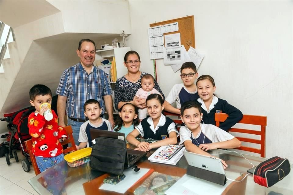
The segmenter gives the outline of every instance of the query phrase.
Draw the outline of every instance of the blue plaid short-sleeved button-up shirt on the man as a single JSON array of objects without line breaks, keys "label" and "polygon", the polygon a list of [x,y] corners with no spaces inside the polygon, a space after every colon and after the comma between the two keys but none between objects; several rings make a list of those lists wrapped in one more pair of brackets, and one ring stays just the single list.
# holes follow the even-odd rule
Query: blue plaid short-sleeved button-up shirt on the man
[{"label": "blue plaid short-sleeved button-up shirt on the man", "polygon": [[74,119],[83,119],[83,105],[89,99],[99,101],[102,114],[105,112],[104,95],[111,95],[112,90],[106,73],[93,66],[91,73],[87,73],[81,63],[64,70],[56,94],[67,97],[66,113]]}]

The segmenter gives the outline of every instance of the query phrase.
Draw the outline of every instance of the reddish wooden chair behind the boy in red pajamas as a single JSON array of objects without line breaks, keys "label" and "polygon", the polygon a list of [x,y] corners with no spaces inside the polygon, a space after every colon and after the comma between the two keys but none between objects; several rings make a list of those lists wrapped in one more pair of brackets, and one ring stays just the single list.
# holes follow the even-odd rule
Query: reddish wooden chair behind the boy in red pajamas
[{"label": "reddish wooden chair behind the boy in red pajamas", "polygon": [[[65,150],[63,150],[63,154],[66,154],[70,151],[77,151],[76,149],[76,146],[75,146],[75,143],[74,143],[74,139],[73,139],[73,135],[72,135],[72,128],[71,126],[66,126],[64,127],[65,131],[66,131],[66,134],[67,134],[67,139],[60,142],[61,145],[65,145],[65,144],[68,144],[68,143],[71,143],[71,147],[68,147],[66,148]],[[38,165],[37,165],[37,162],[36,162],[36,158],[33,154],[33,142],[30,140],[27,140],[24,142],[25,143],[25,147],[27,148],[27,151],[28,153],[30,154],[30,158],[31,158],[31,164],[33,165],[34,167],[34,172],[36,175],[38,175],[39,173],[41,173],[40,169],[38,168]]]}]

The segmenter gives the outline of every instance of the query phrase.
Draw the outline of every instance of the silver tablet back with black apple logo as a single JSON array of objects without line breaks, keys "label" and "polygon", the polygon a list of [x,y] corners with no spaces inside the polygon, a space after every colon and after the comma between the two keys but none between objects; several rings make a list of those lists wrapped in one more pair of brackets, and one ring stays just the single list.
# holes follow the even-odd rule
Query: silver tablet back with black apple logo
[{"label": "silver tablet back with black apple logo", "polygon": [[188,165],[225,175],[221,159],[183,151]]}]

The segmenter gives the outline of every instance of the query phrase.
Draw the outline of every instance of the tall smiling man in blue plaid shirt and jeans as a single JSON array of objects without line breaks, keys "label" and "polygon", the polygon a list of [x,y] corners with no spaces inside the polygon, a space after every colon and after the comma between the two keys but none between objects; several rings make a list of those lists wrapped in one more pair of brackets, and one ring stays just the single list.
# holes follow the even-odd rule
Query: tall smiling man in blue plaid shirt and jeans
[{"label": "tall smiling man in blue plaid shirt and jeans", "polygon": [[66,126],[64,122],[65,108],[68,116],[68,125],[72,126],[74,142],[79,144],[78,136],[80,126],[87,120],[83,105],[89,99],[99,101],[102,115],[105,107],[109,121],[113,125],[112,90],[103,70],[93,66],[96,55],[96,44],[90,39],[79,41],[76,50],[80,62],[66,69],[60,79],[56,94],[58,94],[57,112],[59,125]]}]

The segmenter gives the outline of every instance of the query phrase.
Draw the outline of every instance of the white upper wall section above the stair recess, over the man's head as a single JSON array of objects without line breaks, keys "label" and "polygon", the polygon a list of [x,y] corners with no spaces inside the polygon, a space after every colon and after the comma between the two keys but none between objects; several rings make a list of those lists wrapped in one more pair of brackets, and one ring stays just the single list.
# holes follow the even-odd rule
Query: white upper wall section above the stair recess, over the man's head
[{"label": "white upper wall section above the stair recess, over the man's head", "polygon": [[128,1],[47,1],[61,10],[66,32],[116,34],[124,30],[130,33]]}]

